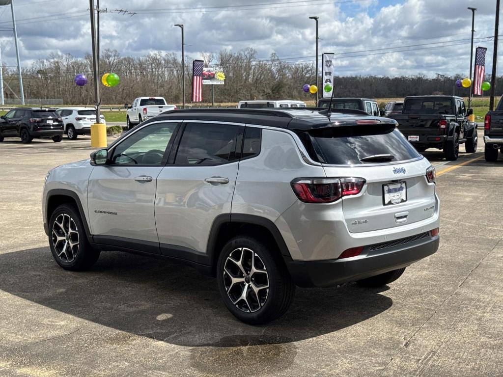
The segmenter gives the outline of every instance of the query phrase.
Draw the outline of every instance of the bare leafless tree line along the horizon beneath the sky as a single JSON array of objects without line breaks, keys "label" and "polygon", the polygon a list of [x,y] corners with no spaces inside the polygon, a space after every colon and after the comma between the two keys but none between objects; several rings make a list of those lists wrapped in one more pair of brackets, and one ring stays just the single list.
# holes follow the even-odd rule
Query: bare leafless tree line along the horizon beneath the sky
[{"label": "bare leafless tree line along the horizon beneath the sky", "polygon": [[[215,85],[215,104],[240,100],[292,99],[309,101],[314,96],[302,91],[302,85],[315,82],[314,62],[291,64],[277,55],[260,60],[257,51],[220,51],[202,56],[206,65],[221,66],[225,84]],[[100,77],[105,72],[120,76],[116,87],[101,85],[101,103],[131,103],[136,97],[162,96],[169,103],[182,103],[182,62],[175,53],[153,53],[143,57],[121,56],[116,50],[104,50],[100,58]],[[16,70],[3,68],[6,98],[19,95]],[[76,86],[73,78],[86,73],[87,85]],[[192,58],[185,61],[186,101],[191,99]],[[338,76],[334,79],[336,97],[402,98],[412,95],[468,96],[468,89],[455,88],[460,74],[448,76],[424,74],[411,76]],[[489,76],[486,76],[489,80]],[[92,57],[51,54],[23,68],[25,98],[62,99],[64,104],[94,104]],[[319,78],[321,82],[321,77]],[[211,103],[211,86],[203,85],[203,100]],[[322,84],[319,84],[320,90]],[[497,77],[495,95],[503,92],[503,76]],[[488,96],[489,93],[486,93]]]}]

